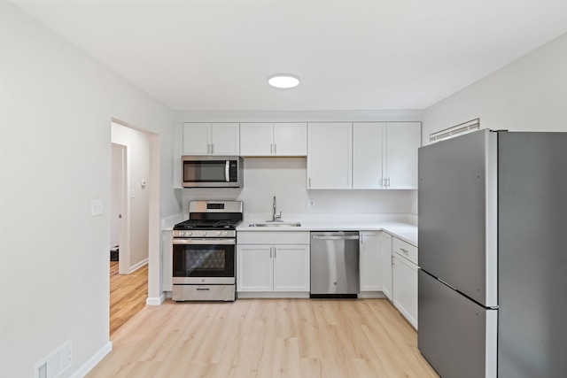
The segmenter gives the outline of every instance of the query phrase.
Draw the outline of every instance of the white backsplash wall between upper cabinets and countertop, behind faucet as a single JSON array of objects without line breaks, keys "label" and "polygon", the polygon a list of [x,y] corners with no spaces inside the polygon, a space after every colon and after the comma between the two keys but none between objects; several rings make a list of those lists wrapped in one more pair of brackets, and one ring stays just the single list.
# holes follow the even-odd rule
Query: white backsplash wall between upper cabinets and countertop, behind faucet
[{"label": "white backsplash wall between upper cabinets and countertop, behind faucet", "polygon": [[[298,214],[352,213],[408,214],[416,190],[307,190],[307,158],[245,158],[244,189],[183,189],[183,213],[193,199],[231,199],[244,201],[245,215],[272,213],[272,197],[283,220],[296,220]],[[307,199],[315,208],[307,209]],[[332,219],[330,219],[332,220]]]}]

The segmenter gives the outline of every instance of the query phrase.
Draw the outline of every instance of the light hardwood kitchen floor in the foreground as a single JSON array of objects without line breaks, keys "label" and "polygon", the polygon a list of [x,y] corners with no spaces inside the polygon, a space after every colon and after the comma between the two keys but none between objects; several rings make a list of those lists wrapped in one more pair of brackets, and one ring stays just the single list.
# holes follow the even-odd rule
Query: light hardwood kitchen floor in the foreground
[{"label": "light hardwood kitchen floor in the foreground", "polygon": [[386,299],[146,306],[94,377],[437,377]]}]

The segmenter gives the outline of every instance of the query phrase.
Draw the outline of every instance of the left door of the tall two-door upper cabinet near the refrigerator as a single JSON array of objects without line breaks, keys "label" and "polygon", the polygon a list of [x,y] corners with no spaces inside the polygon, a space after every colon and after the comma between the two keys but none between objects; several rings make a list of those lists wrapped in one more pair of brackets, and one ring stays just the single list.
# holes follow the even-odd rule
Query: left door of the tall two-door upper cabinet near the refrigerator
[{"label": "left door of the tall two-door upper cabinet near the refrigerator", "polygon": [[380,122],[353,123],[353,189],[383,188],[385,127]]}]

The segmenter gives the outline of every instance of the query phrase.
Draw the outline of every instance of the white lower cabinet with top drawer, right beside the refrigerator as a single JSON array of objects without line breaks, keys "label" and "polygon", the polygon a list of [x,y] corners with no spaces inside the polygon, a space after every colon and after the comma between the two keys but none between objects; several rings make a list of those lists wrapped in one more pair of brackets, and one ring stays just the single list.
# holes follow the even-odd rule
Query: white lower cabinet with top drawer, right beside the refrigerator
[{"label": "white lower cabinet with top drawer, right beside the refrigerator", "polygon": [[417,248],[397,237],[392,246],[393,305],[417,329]]}]

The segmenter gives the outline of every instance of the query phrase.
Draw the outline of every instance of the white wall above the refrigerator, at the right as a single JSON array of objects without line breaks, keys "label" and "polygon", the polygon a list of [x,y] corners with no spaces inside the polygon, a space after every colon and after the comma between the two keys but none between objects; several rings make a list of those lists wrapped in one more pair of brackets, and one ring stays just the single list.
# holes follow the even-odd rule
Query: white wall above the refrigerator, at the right
[{"label": "white wall above the refrigerator, at the right", "polygon": [[480,118],[482,128],[567,131],[567,35],[432,105],[423,112],[423,145],[433,132]]}]

